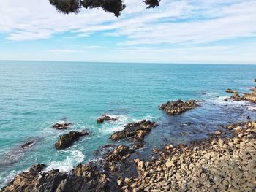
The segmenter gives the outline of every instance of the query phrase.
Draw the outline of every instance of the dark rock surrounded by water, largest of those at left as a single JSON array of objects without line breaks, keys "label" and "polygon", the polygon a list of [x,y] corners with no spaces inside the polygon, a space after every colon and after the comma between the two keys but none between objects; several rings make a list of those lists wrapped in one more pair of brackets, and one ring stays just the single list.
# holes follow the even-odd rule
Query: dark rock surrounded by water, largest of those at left
[{"label": "dark rock surrounded by water, largest of those at left", "polygon": [[65,149],[73,144],[76,140],[78,140],[82,136],[86,136],[89,133],[86,131],[70,131],[68,134],[63,134],[59,136],[58,141],[55,143],[56,149]]}]

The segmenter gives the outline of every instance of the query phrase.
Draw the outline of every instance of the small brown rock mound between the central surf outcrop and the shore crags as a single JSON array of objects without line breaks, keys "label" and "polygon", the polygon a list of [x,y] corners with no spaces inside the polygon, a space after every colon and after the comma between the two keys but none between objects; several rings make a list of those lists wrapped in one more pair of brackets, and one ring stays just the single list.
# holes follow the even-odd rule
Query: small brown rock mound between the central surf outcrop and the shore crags
[{"label": "small brown rock mound between the central surf outcrop and the shore crags", "polygon": [[[134,150],[130,149],[125,145],[119,145],[115,149],[113,149],[108,155],[105,157],[106,161],[123,161],[129,153],[134,152]],[[125,157],[125,158],[124,158]]]}]

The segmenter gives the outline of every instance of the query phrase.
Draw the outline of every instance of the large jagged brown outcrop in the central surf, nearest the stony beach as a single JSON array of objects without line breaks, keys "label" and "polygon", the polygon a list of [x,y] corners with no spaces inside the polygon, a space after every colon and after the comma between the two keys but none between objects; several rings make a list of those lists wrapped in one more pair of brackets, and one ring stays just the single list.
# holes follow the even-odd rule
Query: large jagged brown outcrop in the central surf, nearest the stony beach
[{"label": "large jagged brown outcrop in the central surf, nearest the stony beach", "polygon": [[124,130],[112,134],[110,139],[117,141],[120,139],[131,138],[132,142],[142,141],[146,134],[148,134],[155,126],[157,126],[157,123],[149,120],[141,120],[138,123],[129,123],[124,126]]}]

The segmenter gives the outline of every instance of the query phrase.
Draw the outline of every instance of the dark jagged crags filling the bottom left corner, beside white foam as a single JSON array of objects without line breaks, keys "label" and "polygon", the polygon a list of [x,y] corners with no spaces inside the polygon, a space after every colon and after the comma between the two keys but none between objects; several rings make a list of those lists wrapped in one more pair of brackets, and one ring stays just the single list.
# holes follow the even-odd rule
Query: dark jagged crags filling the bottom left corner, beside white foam
[{"label": "dark jagged crags filling the bottom left corner, beside white foam", "polygon": [[79,164],[70,174],[59,170],[40,173],[44,167],[43,164],[32,166],[27,172],[18,174],[1,191],[108,191],[107,175],[91,164]]}]

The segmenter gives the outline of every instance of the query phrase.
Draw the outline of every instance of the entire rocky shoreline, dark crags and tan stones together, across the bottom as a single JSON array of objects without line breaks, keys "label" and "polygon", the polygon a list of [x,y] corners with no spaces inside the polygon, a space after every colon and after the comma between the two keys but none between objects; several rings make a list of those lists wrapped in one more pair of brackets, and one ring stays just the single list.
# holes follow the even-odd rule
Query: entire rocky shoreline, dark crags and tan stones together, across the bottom
[{"label": "entire rocky shoreline, dark crags and tan stones together, across the bottom", "polygon": [[[205,156],[208,153],[220,155],[222,153],[229,153],[230,150],[232,150],[234,153],[237,153],[237,155],[241,155],[241,153],[250,153],[253,154],[252,159],[250,159],[252,160],[252,165],[249,163],[249,168],[251,169],[247,169],[247,165],[245,165],[246,161],[244,160],[239,160],[238,164],[243,163],[245,165],[244,168],[248,172],[248,178],[253,179],[252,175],[256,175],[255,172],[251,172],[255,170],[252,168],[255,168],[253,167],[253,165],[256,162],[255,158],[253,158],[256,156],[256,123],[255,121],[250,122],[251,126],[249,126],[248,122],[244,122],[241,123],[241,125],[234,124],[233,126],[231,126],[231,128],[228,128],[228,126],[226,128],[222,128],[221,134],[211,135],[210,137],[203,139],[199,142],[195,141],[194,143],[189,145],[189,147],[185,145],[178,145],[177,147],[167,145],[163,150],[155,150],[154,153],[156,153],[156,155],[154,156],[157,156],[157,158],[153,158],[151,161],[147,162],[140,161],[140,159],[136,158],[136,150],[139,149],[141,146],[135,144],[132,147],[120,147],[121,145],[116,147],[113,151],[110,152],[112,153],[110,162],[102,161],[96,165],[90,163],[84,165],[79,164],[74,169],[72,169],[70,174],[59,172],[57,170],[52,170],[50,172],[42,174],[42,166],[37,165],[42,168],[39,169],[39,172],[35,171],[35,169],[37,169],[37,166],[35,166],[33,169],[29,169],[29,172],[23,172],[21,174],[18,174],[18,176],[16,176],[7,187],[2,188],[1,191],[19,191],[24,188],[40,188],[40,186],[45,185],[48,185],[49,190],[52,190],[56,186],[56,190],[58,188],[60,190],[61,188],[65,191],[67,190],[65,188],[67,188],[67,186],[69,185],[74,185],[73,189],[77,188],[80,182],[82,182],[83,185],[79,185],[82,185],[84,188],[89,188],[89,191],[193,191],[193,189],[195,188],[201,188],[203,191],[212,191],[219,188],[222,188],[223,191],[236,190],[238,189],[238,187],[241,187],[241,183],[234,183],[233,185],[230,185],[233,180],[231,177],[230,180],[225,180],[225,177],[223,178],[223,175],[219,176],[222,180],[225,180],[228,185],[223,184],[222,181],[219,182],[221,185],[219,185],[218,182],[218,184],[214,183],[214,176],[215,174],[217,175],[218,172],[213,174],[213,169],[214,171],[216,171],[215,169],[217,169],[217,167],[214,167],[216,166],[216,164],[214,164],[213,162],[212,166],[208,168],[209,172],[212,171],[211,174],[208,174],[208,172],[205,172],[205,170],[202,169],[199,174],[195,176],[193,175],[192,178],[192,172],[196,171],[195,166],[194,168],[190,167],[191,169],[189,169],[189,164],[187,162],[185,162],[186,164],[183,164],[184,162],[181,161],[181,164],[176,164],[180,159],[176,159],[177,161],[172,161],[172,158],[173,156],[178,156],[177,158],[186,158],[184,157],[184,154],[186,154],[192,162],[194,162],[193,159],[195,160],[196,158],[200,159],[200,161],[203,161],[203,164],[200,165],[202,167],[205,164],[208,164],[208,161],[210,161],[212,158],[211,155],[210,158],[208,158],[208,156]],[[237,140],[237,138],[240,139]],[[216,141],[216,139],[218,140]],[[231,145],[231,142],[233,143],[233,145]],[[108,157],[110,153],[107,155]],[[234,159],[232,155],[228,153],[227,159],[224,159],[227,162],[226,164],[222,165],[228,165],[227,167],[230,168],[229,164],[227,163],[229,161],[233,161]],[[195,157],[193,155],[195,155]],[[212,159],[214,159],[214,161],[217,161],[221,159],[221,156],[219,156],[219,158]],[[200,166],[197,166],[197,168]],[[99,172],[99,168],[104,169],[105,171]],[[172,170],[170,170],[170,168],[172,168]],[[173,172],[173,169],[176,169],[176,172]],[[240,169],[241,167],[239,168],[239,170]],[[191,170],[192,172],[190,172]],[[231,171],[232,170],[227,169],[227,172],[232,173]],[[89,172],[89,174],[91,173],[90,176],[85,176],[85,172]],[[131,172],[131,174],[129,174],[129,177],[124,177],[127,172]],[[163,172],[165,172],[165,174],[162,174]],[[93,173],[96,174],[94,175]],[[184,176],[184,173],[187,174],[186,177]],[[236,172],[236,174],[240,173],[240,171]],[[242,176],[245,177],[244,175],[245,174],[243,174]],[[57,180],[50,180],[49,177],[53,179],[55,178]],[[59,177],[62,179],[60,179]],[[26,180],[28,178],[29,180],[27,180],[25,183],[19,183],[19,180]],[[191,180],[195,179],[195,182],[190,185],[191,183],[187,181],[188,178]],[[200,182],[202,178],[207,179],[205,183]],[[66,180],[64,183],[63,179]],[[157,182],[155,182],[154,180],[157,180]],[[169,180],[170,183],[168,183]],[[186,180],[186,182],[181,182],[182,180]],[[197,183],[196,180],[199,183]],[[189,185],[187,185],[187,183],[189,183]],[[249,185],[247,185],[248,183]],[[99,186],[97,190],[93,188],[95,187],[95,185]],[[169,188],[168,185],[170,185]],[[186,188],[182,189],[184,186],[186,186]],[[253,191],[256,188],[256,183],[255,181],[245,182],[244,186],[246,187],[244,188],[245,191]]]}]

